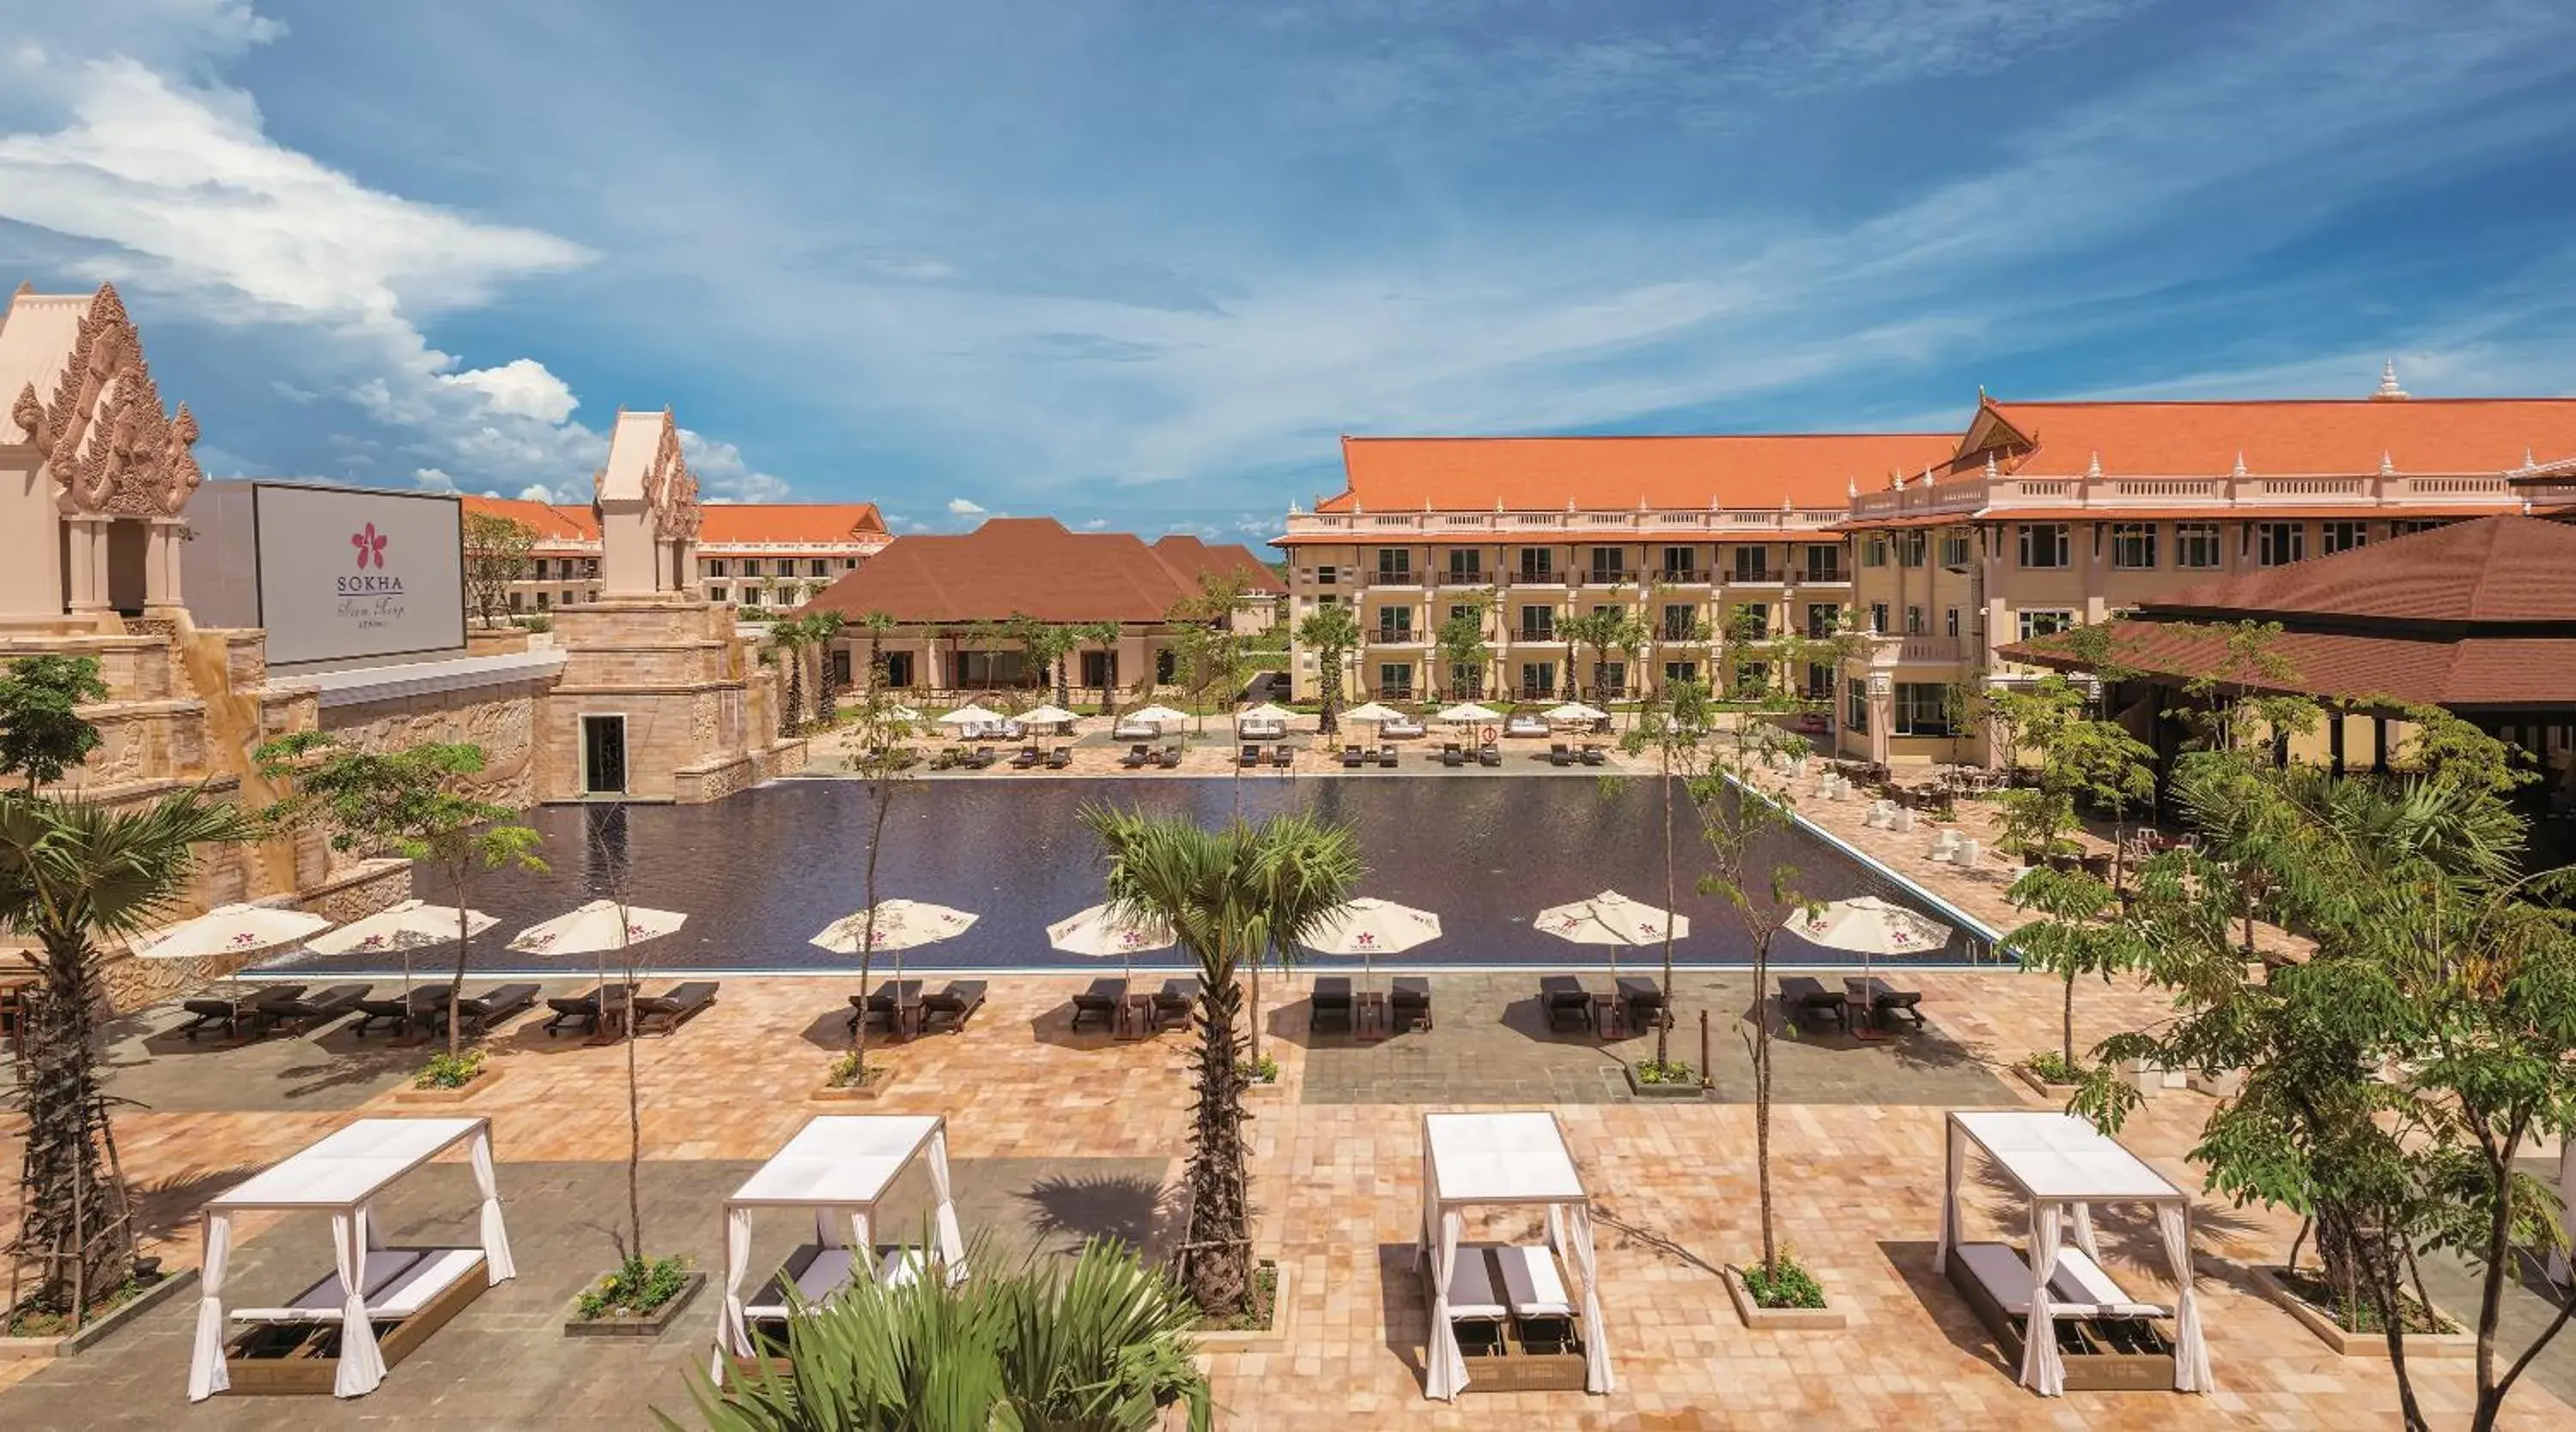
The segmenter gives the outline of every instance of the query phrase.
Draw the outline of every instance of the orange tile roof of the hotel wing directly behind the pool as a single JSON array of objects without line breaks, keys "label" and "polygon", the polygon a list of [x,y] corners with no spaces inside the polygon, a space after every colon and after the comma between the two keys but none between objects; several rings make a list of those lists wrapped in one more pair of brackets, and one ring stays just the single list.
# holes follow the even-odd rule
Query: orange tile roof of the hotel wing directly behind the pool
[{"label": "orange tile roof of the hotel wing directly behind the pool", "polygon": [[1347,489],[1319,510],[1543,513],[1834,507],[1850,484],[1950,461],[1953,433],[1747,433],[1716,438],[1342,438]]}]

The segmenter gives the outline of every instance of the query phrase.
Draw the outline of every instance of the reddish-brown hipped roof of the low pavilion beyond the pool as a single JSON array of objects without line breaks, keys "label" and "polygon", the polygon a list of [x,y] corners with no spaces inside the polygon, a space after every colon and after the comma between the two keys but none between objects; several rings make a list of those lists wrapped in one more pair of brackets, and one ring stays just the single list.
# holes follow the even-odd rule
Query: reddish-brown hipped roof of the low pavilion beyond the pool
[{"label": "reddish-brown hipped roof of the low pavilion beyond the pool", "polygon": [[1172,603],[1198,592],[1200,572],[1242,564],[1260,567],[1242,546],[1198,538],[1146,546],[1133,533],[1072,533],[1054,518],[989,518],[971,533],[896,541],[806,600],[806,610],[853,618],[881,610],[904,623],[1002,621],[1015,613],[1061,623],[1157,623]]}]

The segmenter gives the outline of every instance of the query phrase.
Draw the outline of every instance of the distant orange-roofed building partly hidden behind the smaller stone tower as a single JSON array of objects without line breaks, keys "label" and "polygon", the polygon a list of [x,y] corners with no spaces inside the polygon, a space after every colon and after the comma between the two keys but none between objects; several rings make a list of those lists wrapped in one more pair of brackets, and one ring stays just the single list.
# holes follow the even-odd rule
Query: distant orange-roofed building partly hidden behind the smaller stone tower
[{"label": "distant orange-roofed building partly hidden behind the smaller stone tower", "polygon": [[[587,505],[466,497],[466,510],[536,533],[531,572],[510,585],[510,610],[600,600],[600,523]],[[737,608],[799,608],[894,541],[873,502],[711,502],[701,513],[698,595]]]}]

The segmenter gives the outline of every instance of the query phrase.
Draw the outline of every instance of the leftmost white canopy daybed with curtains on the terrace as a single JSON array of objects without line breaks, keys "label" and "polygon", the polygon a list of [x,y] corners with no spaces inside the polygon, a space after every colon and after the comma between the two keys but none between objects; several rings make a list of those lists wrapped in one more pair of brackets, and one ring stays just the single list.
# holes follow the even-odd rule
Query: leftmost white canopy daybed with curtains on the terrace
[{"label": "leftmost white canopy daybed with curtains on the terrace", "polygon": [[[389,1249],[376,1241],[374,1200],[386,1185],[466,1144],[482,1192],[482,1244]],[[247,1211],[330,1213],[332,1272],[273,1308],[232,1308],[252,1324],[224,1344],[224,1272],[232,1216]],[[206,1205],[206,1267],[198,1275],[196,1352],[188,1401],[219,1391],[330,1391],[363,1396],[459,1308],[492,1283],[518,1277],[492,1182],[487,1118],[361,1118]],[[376,1324],[394,1324],[376,1334]],[[332,1347],[337,1344],[337,1347]],[[240,1386],[237,1386],[240,1383]]]}]

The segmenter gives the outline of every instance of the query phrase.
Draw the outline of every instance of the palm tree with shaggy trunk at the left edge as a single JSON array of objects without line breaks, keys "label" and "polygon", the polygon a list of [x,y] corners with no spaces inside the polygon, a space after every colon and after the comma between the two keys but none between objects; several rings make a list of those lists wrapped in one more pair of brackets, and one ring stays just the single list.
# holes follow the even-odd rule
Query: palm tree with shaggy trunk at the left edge
[{"label": "palm tree with shaggy trunk at the left edge", "polygon": [[98,940],[165,922],[188,896],[198,845],[250,837],[234,806],[196,791],[144,809],[0,793],[0,930],[36,943],[18,1089],[26,1110],[15,1254],[36,1265],[21,1308],[88,1316],[134,1275],[126,1190],[100,1169]]}]

